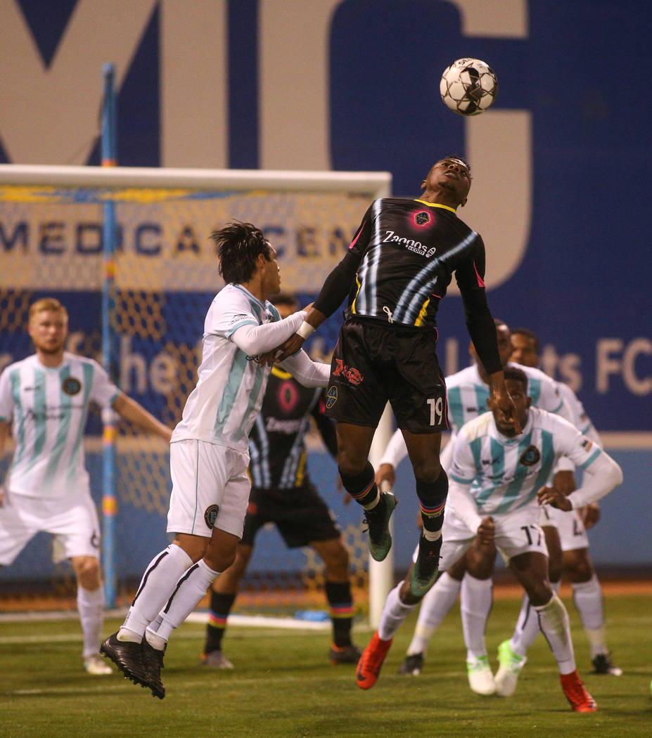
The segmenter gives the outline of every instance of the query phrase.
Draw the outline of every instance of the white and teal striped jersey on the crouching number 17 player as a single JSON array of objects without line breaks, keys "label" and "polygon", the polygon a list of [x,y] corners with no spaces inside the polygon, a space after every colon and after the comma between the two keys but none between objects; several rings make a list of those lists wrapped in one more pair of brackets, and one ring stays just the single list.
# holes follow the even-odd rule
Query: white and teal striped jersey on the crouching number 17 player
[{"label": "white and teal striped jersey on the crouching number 17 player", "polygon": [[538,506],[537,492],[561,457],[586,469],[606,455],[568,421],[545,410],[531,407],[523,433],[515,438],[502,435],[492,413],[484,413],[460,428],[448,473],[454,482],[470,486],[478,514],[485,517]]}]

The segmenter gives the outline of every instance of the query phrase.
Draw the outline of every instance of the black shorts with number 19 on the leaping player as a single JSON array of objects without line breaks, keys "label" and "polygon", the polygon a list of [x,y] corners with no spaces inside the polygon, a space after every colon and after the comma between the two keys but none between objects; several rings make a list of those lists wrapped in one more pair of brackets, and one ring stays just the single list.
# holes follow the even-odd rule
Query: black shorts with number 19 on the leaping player
[{"label": "black shorts with number 19 on the leaping player", "polygon": [[402,430],[445,430],[446,384],[436,345],[434,330],[349,317],[333,354],[326,415],[375,428],[389,401]]}]

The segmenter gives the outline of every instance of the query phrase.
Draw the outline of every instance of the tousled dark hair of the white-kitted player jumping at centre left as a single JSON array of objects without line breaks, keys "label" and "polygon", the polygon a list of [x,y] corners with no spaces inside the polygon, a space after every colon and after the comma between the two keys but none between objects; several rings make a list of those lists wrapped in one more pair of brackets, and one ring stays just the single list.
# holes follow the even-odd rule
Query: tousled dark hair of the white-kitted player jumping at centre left
[{"label": "tousled dark hair of the white-kitted player jumping at centre left", "polygon": [[217,246],[219,273],[224,282],[248,282],[254,275],[256,261],[261,254],[267,261],[272,261],[270,242],[260,228],[251,223],[227,223],[223,228],[214,230],[210,238]]}]

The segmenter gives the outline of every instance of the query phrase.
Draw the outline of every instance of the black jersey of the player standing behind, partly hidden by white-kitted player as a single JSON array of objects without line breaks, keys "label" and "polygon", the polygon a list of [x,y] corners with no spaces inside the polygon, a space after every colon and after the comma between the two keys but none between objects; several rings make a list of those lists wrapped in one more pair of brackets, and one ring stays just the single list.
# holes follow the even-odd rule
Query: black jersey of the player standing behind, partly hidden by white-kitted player
[{"label": "black jersey of the player standing behind, partly hidden by white-kitted player", "polygon": [[249,474],[254,487],[294,489],[303,484],[310,415],[326,447],[332,455],[337,453],[334,424],[325,410],[321,387],[303,387],[291,374],[272,368],[249,438]]}]

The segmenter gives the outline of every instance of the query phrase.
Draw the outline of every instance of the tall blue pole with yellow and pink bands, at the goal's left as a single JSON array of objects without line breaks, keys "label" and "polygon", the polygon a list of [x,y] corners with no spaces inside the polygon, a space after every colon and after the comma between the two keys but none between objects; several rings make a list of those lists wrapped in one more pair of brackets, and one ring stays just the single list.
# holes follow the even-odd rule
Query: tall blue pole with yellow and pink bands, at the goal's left
[{"label": "tall blue pole with yellow and pink bands, at the goal's left", "polygon": [[[102,166],[116,165],[116,100],[114,93],[114,66],[105,64],[102,69]],[[103,204],[103,273],[102,273],[102,357],[112,382],[117,381],[117,356],[115,354],[115,238],[116,221],[113,201]],[[106,607],[116,604],[115,526],[117,496],[115,489],[115,441],[117,417],[111,407],[102,413],[102,565],[104,570],[104,597]]]}]

